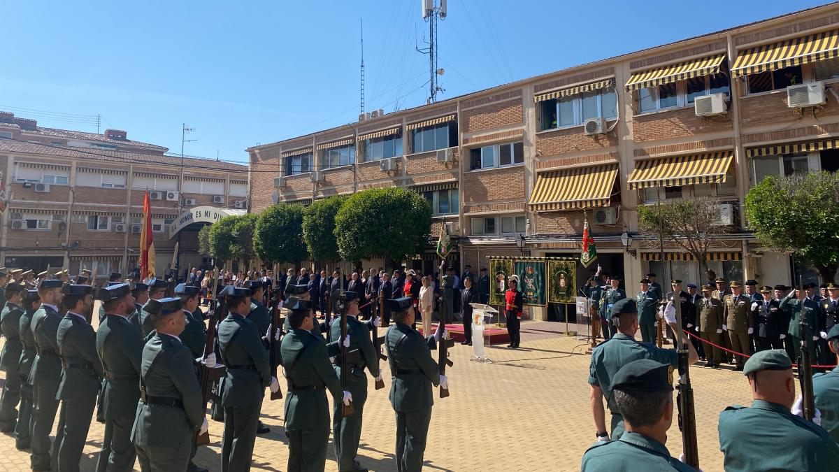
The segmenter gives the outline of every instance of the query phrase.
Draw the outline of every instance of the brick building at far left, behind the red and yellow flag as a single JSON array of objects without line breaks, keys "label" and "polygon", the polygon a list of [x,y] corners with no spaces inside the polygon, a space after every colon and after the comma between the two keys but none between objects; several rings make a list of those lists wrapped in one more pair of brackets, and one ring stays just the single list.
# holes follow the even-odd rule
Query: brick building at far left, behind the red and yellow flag
[{"label": "brick building at far left, behind the red and yellow flag", "polygon": [[[201,265],[197,229],[247,209],[248,168],[166,155],[166,149],[103,134],[43,128],[0,112],[0,170],[7,208],[0,220],[0,265],[39,272],[81,269],[100,278],[138,265],[143,197],[150,197],[156,271]],[[106,279],[107,280],[107,279]]]}]

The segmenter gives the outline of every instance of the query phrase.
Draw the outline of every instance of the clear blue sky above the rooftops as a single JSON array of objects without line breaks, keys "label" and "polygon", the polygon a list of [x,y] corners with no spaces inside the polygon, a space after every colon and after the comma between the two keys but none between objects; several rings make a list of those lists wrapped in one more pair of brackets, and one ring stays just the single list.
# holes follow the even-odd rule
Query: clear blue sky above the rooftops
[{"label": "clear blue sky above the rooftops", "polygon": [[[89,119],[55,113],[101,113],[173,152],[185,122],[187,155],[244,161],[248,146],[357,119],[362,18],[367,111],[425,103],[420,0],[237,3],[8,2],[0,110],[84,131]],[[438,98],[822,3],[449,0]]]}]

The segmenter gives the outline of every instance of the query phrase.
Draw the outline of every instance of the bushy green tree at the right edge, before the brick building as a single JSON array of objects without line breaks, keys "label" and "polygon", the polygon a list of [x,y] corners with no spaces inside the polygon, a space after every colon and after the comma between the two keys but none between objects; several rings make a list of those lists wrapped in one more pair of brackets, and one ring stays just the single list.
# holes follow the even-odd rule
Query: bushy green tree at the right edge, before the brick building
[{"label": "bushy green tree at the right edge, before the brick building", "polygon": [[839,269],[839,175],[769,176],[746,195],[746,219],[764,246],[810,261],[822,280]]}]

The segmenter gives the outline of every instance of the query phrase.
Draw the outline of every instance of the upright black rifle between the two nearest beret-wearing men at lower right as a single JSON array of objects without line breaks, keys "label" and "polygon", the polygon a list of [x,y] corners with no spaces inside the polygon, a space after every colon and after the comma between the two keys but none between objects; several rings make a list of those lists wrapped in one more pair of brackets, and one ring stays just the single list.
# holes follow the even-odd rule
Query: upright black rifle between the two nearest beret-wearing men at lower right
[{"label": "upright black rifle between the two nearest beret-wearing men at lower right", "polygon": [[[688,372],[688,348],[690,341],[681,330],[681,292],[673,292],[673,305],[676,311],[676,339],[679,344],[676,352],[679,359],[679,379],[676,390],[676,406],[679,408],[679,429],[682,432],[682,449],[685,454],[685,464],[699,470],[699,443],[696,438],[696,409],[693,402],[693,387],[690,385],[690,373]],[[659,325],[666,323],[659,320]]]}]

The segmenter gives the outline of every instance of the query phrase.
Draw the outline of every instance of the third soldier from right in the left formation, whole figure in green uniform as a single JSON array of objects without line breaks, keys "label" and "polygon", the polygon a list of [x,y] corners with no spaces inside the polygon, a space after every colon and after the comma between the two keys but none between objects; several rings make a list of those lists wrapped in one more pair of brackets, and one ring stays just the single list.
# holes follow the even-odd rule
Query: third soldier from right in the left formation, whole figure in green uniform
[{"label": "third soldier from right in the left formation, whole figure in green uniform", "polygon": [[[312,333],[315,319],[308,300],[290,299],[286,317],[290,330],[280,344],[289,391],[285,396],[285,435],[289,438],[289,472],[322,471],[329,441],[329,403],[349,403],[352,394],[341,391],[341,382],[329,363],[329,349]],[[349,338],[349,337],[347,337]]]}]

